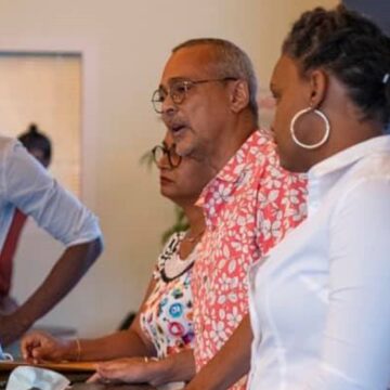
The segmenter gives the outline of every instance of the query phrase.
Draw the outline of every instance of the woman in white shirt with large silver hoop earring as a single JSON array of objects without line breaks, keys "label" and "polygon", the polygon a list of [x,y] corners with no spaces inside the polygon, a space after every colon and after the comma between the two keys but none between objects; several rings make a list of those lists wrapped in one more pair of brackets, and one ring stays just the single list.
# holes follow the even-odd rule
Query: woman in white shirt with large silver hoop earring
[{"label": "woman in white shirt with large silver hoop earring", "polygon": [[282,165],[308,219],[250,272],[249,389],[382,390],[390,379],[390,40],[338,6],[304,13],[271,81]]}]

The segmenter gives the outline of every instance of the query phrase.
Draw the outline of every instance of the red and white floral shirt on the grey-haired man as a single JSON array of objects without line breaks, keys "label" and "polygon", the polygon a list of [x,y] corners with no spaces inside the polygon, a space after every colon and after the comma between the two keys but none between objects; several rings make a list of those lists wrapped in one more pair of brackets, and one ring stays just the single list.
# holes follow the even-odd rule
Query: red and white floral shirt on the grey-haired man
[{"label": "red and white floral shirt on the grey-haired man", "polygon": [[[206,232],[192,274],[197,370],[248,313],[249,265],[306,217],[304,177],[278,165],[275,145],[253,132],[204,188]],[[245,380],[234,388],[242,389]]]}]

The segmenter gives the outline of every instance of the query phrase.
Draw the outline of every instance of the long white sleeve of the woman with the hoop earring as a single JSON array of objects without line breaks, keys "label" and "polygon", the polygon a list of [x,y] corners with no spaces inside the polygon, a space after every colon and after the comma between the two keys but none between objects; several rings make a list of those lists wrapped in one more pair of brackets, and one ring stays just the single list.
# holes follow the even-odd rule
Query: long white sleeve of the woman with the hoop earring
[{"label": "long white sleeve of the woman with the hoop earring", "polygon": [[390,181],[366,180],[329,226],[329,307],[322,355],[304,389],[379,390],[390,373]]}]

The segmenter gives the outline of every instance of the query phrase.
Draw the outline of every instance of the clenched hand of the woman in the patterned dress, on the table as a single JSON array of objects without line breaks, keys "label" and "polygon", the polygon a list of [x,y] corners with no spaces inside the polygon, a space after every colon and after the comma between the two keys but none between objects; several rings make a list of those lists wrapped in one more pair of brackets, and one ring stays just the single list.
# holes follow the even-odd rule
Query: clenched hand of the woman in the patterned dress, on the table
[{"label": "clenched hand of the woman in the patterned dress, on the table", "polygon": [[69,354],[70,343],[72,340],[60,340],[43,332],[32,332],[21,341],[22,356],[34,364],[43,360],[58,362]]}]

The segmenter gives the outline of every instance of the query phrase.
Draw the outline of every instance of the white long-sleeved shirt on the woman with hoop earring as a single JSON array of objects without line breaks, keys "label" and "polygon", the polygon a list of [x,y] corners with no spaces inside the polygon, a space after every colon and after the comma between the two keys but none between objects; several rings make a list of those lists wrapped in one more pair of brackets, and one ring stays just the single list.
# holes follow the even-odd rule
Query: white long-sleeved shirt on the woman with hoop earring
[{"label": "white long-sleeved shirt on the woman with hoop earring", "polygon": [[390,135],[312,167],[308,219],[250,270],[248,389],[384,390]]}]

